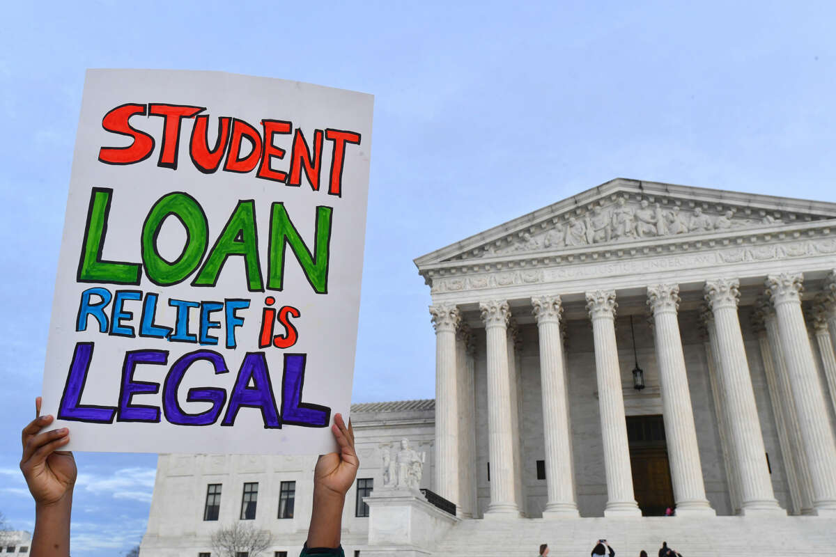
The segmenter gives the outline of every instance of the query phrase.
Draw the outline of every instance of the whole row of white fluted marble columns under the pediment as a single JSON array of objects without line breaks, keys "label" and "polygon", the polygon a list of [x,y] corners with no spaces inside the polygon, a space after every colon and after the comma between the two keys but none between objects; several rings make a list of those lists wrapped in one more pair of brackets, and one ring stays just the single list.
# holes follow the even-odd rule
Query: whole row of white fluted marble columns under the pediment
[{"label": "whole row of white fluted marble columns under the pediment", "polygon": [[[786,445],[791,453],[793,448],[795,453],[803,453],[805,466],[796,468],[799,469],[799,483],[808,482],[808,498],[799,504],[808,505],[806,510],[811,514],[836,514],[836,467],[833,466],[836,463],[836,444],[801,311],[802,280],[803,276],[792,274],[767,277],[768,306],[772,313],[765,319],[765,331],[772,347],[777,344],[782,351],[780,357],[772,358],[773,376],[767,370],[767,382],[772,384],[771,396],[772,391],[775,392],[773,400],[777,397],[782,401],[777,405],[777,413],[792,433],[782,442],[782,449]],[[836,271],[832,283],[833,297],[827,306],[829,313],[825,312],[818,319],[828,322],[829,334],[833,335],[833,341],[828,339],[830,359],[827,360],[825,351],[822,352],[826,360],[825,368],[832,372],[832,397],[836,401],[836,357],[833,357],[833,343],[836,342]],[[679,515],[711,515],[714,510],[706,499],[677,318],[679,286],[649,286],[647,296],[653,316],[676,512]],[[709,372],[712,390],[720,403],[718,421],[724,430],[723,437],[730,456],[727,472],[732,482],[733,503],[741,514],[783,514],[785,511],[778,506],[772,491],[737,315],[739,281],[725,278],[706,281],[704,296],[708,345],[711,348]],[[614,319],[618,306],[615,291],[590,291],[585,297],[593,327],[599,388],[608,497],[604,515],[640,515],[630,470],[615,342]],[[565,473],[572,469],[572,463],[565,357],[560,332],[560,296],[535,296],[532,306],[539,333],[548,488],[548,502],[543,514],[578,516],[573,476]],[[520,516],[522,494],[517,481],[519,471],[516,462],[519,458],[518,438],[512,427],[515,406],[512,398],[516,397],[517,386],[509,357],[507,332],[511,312],[507,301],[503,300],[485,301],[479,307],[487,338],[488,456],[491,463],[491,502],[485,518]],[[436,489],[442,497],[456,501],[464,515],[471,515],[475,514],[475,501],[467,494],[466,486],[459,482],[462,455],[460,443],[457,443],[461,433],[461,420],[456,419],[461,400],[458,389],[468,384],[462,381],[461,373],[457,371],[461,365],[456,365],[456,327],[461,316],[456,306],[444,305],[432,306],[431,315],[436,327]],[[766,363],[765,367],[768,367]],[[472,424],[467,427],[472,427]],[[804,470],[800,471],[800,468]],[[803,489],[800,491],[803,493]],[[464,507],[463,501],[467,501]]]}]

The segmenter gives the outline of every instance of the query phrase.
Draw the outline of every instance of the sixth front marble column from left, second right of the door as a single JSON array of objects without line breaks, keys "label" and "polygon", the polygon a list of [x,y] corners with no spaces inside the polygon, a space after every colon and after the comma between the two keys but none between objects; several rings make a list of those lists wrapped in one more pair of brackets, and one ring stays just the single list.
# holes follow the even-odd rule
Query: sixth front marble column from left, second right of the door
[{"label": "sixth front marble column from left, second right of the door", "polygon": [[755,392],[737,316],[737,279],[706,281],[705,294],[714,315],[723,394],[740,477],[741,514],[786,514],[775,499],[767,468]]}]

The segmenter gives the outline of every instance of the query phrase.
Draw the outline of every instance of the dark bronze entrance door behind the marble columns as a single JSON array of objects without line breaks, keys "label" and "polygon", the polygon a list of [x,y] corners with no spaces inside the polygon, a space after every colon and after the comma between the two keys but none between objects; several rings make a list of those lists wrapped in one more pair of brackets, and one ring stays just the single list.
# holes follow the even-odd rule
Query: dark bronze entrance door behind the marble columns
[{"label": "dark bronze entrance door behind the marble columns", "polygon": [[664,516],[674,507],[665,423],[660,415],[628,416],[627,439],[633,489],[642,516]]}]

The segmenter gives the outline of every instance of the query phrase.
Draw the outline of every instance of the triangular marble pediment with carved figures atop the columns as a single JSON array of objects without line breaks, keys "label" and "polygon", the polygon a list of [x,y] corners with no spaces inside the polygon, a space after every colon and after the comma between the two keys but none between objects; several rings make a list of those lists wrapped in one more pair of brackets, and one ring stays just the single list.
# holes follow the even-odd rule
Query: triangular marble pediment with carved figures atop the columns
[{"label": "triangular marble pediment with carved figures atop the columns", "polygon": [[415,260],[513,259],[836,219],[836,204],[616,179]]}]

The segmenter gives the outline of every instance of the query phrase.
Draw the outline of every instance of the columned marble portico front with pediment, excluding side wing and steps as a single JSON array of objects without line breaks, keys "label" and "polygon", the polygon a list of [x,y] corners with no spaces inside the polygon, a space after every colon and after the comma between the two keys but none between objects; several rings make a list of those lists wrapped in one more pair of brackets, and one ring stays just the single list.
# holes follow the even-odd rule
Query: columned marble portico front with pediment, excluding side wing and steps
[{"label": "columned marble portico front with pediment, excluding side wing and steps", "polygon": [[[677,514],[836,515],[834,225],[832,203],[617,179],[416,259],[436,490],[485,519],[639,515],[625,416],[661,414]],[[473,430],[464,479],[448,440]]]}]

